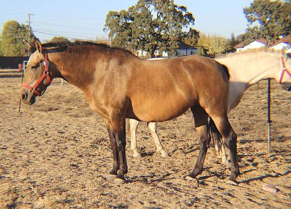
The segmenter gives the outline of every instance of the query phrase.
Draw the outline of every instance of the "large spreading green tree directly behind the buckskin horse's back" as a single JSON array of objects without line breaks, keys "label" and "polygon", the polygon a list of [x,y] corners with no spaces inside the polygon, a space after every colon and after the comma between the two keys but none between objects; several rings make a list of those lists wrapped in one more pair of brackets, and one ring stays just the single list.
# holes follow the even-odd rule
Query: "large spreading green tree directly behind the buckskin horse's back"
[{"label": "large spreading green tree directly behind the buckskin horse's back", "polygon": [[138,0],[127,11],[110,11],[104,31],[109,31],[113,45],[145,50],[153,56],[155,50],[176,52],[185,38],[197,41],[194,21],[187,8],[174,0]]}]

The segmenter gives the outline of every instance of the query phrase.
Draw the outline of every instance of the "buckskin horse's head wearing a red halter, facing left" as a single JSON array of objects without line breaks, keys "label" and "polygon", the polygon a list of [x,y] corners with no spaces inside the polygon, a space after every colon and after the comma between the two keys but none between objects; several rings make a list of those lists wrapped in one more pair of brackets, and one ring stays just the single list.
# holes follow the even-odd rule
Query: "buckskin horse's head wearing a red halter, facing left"
[{"label": "buckskin horse's head wearing a red halter, facing left", "polygon": [[40,41],[35,40],[35,51],[29,58],[21,83],[20,99],[24,104],[34,104],[36,96],[41,96],[49,87],[51,80],[60,76],[56,65],[48,56],[48,53],[57,52],[60,48],[43,48]]}]

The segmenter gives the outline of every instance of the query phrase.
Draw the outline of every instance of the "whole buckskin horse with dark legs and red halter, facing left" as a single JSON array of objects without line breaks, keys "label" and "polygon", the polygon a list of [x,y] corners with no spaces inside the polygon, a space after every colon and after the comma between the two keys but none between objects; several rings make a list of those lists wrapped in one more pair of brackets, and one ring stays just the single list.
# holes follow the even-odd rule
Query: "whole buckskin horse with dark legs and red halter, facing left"
[{"label": "whole buckskin horse with dark legs and red halter, facing left", "polygon": [[[32,49],[33,50],[33,49]],[[152,76],[155,75],[155,76]],[[90,42],[35,41],[21,84],[20,99],[34,104],[51,80],[61,77],[85,93],[89,105],[104,120],[113,151],[107,176],[125,182],[126,118],[158,122],[175,119],[191,108],[199,134],[199,154],[187,179],[201,174],[210,142],[209,116],[229,148],[230,182],[239,175],[237,136],[228,118],[227,69],[210,58],[194,55],[169,60],[141,60],[127,50]]]}]

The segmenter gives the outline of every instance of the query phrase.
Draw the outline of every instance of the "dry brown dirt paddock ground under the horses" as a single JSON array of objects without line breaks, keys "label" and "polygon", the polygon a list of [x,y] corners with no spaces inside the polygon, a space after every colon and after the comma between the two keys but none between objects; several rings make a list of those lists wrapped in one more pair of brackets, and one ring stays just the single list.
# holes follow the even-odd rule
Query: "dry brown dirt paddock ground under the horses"
[{"label": "dry brown dirt paddock ground under the horses", "polygon": [[[104,178],[113,163],[106,128],[82,92],[54,83],[18,114],[20,80],[19,73],[0,71],[0,208],[291,208],[291,93],[275,82],[270,151],[266,81],[251,87],[229,116],[238,134],[239,186],[226,184],[230,171],[212,145],[202,175],[183,179],[198,155],[190,111],[159,123],[169,158],[155,153],[145,123],[137,136],[142,159],[132,157],[127,137],[127,183],[116,186]],[[264,183],[279,192],[262,190]]]}]

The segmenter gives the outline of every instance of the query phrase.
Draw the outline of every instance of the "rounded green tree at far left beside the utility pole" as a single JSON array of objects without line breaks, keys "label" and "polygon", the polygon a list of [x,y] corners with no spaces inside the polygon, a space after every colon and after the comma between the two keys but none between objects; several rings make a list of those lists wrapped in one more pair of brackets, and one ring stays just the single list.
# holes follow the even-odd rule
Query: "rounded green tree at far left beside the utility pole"
[{"label": "rounded green tree at far left beside the utility pole", "polygon": [[[15,20],[10,20],[4,23],[2,30],[1,48],[5,56],[24,56],[27,55],[28,41],[27,25],[21,24]],[[34,40],[35,36],[32,31],[30,34],[30,42]]]}]

